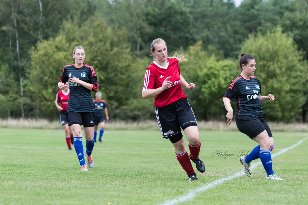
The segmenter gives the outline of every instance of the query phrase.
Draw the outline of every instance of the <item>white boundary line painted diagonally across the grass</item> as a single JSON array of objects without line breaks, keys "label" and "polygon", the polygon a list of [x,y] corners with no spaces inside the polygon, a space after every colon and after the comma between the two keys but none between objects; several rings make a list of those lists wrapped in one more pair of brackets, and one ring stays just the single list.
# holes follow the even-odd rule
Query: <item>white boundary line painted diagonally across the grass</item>
[{"label": "white boundary line painted diagonally across the grass", "polygon": [[[275,156],[278,156],[280,154],[283,154],[284,152],[298,146],[299,144],[302,144],[303,141],[307,140],[308,137],[298,141],[298,143],[296,144],[293,144],[292,146],[288,147],[288,148],[284,148],[282,149],[281,151],[275,153],[275,154],[272,154],[272,158],[274,158]],[[256,168],[259,164],[262,164],[261,161],[260,162],[257,162],[257,163],[254,163],[251,167],[250,167],[250,170]],[[231,180],[231,179],[234,179],[234,178],[237,178],[239,176],[242,176],[242,175],[245,175],[245,173],[243,171],[239,171],[233,175],[230,175],[230,176],[227,176],[225,178],[222,178],[222,179],[218,179],[218,180],[215,180],[211,183],[208,183],[200,188],[197,188],[197,189],[193,189],[191,191],[189,191],[186,195],[182,195],[180,197],[177,197],[175,199],[172,199],[172,200],[168,200],[168,201],[165,201],[164,203],[161,203],[162,205],[170,205],[170,204],[176,204],[176,203],[182,203],[182,202],[185,202],[185,201],[188,201],[188,200],[191,200],[193,199],[198,193],[200,192],[204,192],[204,191],[207,191],[213,187],[215,187],[216,185],[219,185],[225,181],[228,181],[228,180]]]}]

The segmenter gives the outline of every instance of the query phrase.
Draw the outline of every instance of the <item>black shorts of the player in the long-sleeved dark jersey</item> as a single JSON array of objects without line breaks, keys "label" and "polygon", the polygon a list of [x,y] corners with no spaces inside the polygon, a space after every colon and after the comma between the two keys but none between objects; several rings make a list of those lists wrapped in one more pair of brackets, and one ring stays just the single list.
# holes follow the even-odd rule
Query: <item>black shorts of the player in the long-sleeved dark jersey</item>
[{"label": "black shorts of the player in the long-sleeved dark jersey", "polygon": [[67,112],[69,125],[79,124],[83,125],[84,128],[93,127],[95,123],[94,112]]}]

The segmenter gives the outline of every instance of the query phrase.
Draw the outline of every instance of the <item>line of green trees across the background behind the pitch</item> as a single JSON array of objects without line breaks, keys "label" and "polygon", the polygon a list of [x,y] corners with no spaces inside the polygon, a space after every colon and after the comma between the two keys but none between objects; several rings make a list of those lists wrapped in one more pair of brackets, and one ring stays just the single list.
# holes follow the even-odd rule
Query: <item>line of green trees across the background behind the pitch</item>
[{"label": "line of green trees across the background behind the pitch", "polygon": [[0,117],[58,118],[57,82],[82,45],[111,119],[154,119],[141,90],[156,38],[188,54],[197,119],[225,119],[222,96],[249,53],[262,94],[275,96],[266,119],[307,122],[308,0],[0,0]]}]

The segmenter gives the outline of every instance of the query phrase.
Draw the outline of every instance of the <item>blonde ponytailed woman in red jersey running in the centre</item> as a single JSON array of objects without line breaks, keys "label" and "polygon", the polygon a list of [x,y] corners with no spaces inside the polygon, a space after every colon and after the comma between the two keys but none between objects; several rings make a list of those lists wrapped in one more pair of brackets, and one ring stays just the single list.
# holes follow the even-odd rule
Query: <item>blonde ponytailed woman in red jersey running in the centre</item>
[{"label": "blonde ponytailed woman in red jersey running in the centre", "polygon": [[[167,44],[161,38],[152,42],[151,51],[154,61],[146,69],[142,97],[155,97],[156,119],[162,136],[173,144],[176,158],[186,171],[188,179],[198,180],[189,158],[198,171],[205,171],[205,166],[199,159],[201,141],[195,115],[181,87],[193,90],[196,86],[185,81],[179,67],[179,62],[187,59],[184,54],[168,57]],[[181,128],[189,142],[189,156]]]}]

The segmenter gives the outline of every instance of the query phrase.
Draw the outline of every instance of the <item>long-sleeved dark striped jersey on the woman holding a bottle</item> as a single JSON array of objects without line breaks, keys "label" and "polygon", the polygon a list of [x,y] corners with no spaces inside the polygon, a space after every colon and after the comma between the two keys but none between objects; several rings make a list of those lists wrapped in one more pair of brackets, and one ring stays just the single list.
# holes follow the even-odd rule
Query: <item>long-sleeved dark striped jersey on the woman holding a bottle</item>
[{"label": "long-sleeved dark striped jersey on the woman holding a bottle", "polygon": [[[92,66],[83,63],[81,68],[76,68],[75,64],[66,65],[60,82],[66,83],[69,78],[77,77],[79,80],[92,84],[91,90],[98,90],[96,73]],[[93,100],[90,90],[75,82],[70,82],[70,97],[67,104],[67,112],[94,112]]]}]

